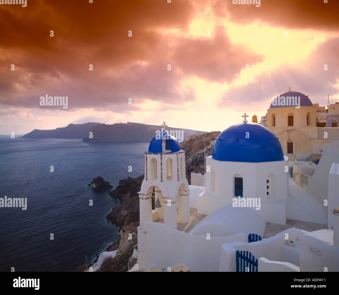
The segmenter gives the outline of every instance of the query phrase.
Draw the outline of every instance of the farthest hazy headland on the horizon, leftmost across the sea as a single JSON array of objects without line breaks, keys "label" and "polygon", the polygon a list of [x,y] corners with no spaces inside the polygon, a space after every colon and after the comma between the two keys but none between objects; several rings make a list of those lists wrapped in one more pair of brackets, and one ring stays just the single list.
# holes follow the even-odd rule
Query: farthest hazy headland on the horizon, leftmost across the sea
[{"label": "farthest hazy headland on the horizon, leftmost across the sea", "polygon": [[34,129],[20,138],[84,138],[88,135],[89,130],[100,124],[88,122],[84,124],[68,124],[66,127],[53,130]]}]

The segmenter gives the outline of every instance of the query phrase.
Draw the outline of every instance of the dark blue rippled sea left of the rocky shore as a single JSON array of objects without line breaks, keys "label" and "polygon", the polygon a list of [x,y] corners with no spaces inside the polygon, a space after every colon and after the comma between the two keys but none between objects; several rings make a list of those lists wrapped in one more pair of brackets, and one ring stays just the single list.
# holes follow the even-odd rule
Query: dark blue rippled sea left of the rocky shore
[{"label": "dark blue rippled sea left of the rocky shore", "polygon": [[74,271],[117,241],[105,216],[118,201],[86,185],[142,175],[148,144],[0,139],[0,198],[27,198],[26,210],[0,208],[0,271]]}]

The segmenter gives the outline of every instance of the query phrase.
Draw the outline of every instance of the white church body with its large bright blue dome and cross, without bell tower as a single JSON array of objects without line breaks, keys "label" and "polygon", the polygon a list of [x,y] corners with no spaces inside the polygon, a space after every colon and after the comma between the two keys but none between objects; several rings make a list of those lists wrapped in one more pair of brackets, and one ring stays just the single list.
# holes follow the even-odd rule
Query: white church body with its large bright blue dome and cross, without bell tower
[{"label": "white church body with its large bright blue dome and cross, without bell tower", "polygon": [[246,119],[228,127],[206,157],[206,190],[197,197],[198,212],[208,215],[235,198],[255,198],[261,207],[251,209],[265,221],[286,224],[286,165],[278,137],[266,127]]}]

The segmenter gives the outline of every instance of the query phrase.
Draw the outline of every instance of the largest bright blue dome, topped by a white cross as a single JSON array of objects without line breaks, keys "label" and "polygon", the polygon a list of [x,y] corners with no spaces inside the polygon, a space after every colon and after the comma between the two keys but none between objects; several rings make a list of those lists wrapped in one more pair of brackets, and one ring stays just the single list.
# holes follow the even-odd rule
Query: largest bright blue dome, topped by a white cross
[{"label": "largest bright blue dome, topped by a white cross", "polygon": [[[249,138],[246,138],[249,132]],[[284,161],[279,139],[257,123],[239,123],[228,127],[216,139],[212,159],[228,162]]]}]

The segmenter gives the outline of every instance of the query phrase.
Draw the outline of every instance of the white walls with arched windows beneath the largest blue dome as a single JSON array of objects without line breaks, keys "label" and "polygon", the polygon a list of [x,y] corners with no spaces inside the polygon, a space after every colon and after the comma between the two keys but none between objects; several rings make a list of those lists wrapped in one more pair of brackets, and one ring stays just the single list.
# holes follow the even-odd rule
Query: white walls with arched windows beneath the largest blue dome
[{"label": "white walls with arched windows beneath the largest blue dome", "polygon": [[[243,163],[222,162],[206,157],[206,165],[215,173],[215,191],[211,190],[211,172],[206,173],[206,191],[198,196],[198,212],[210,214],[216,209],[232,204],[234,196],[234,176],[243,178],[243,197],[260,198],[261,209],[257,210],[267,222],[286,224],[286,199],[288,194],[287,161]],[[267,176],[275,176],[274,198],[267,199]],[[266,203],[267,205],[263,204]]]}]

